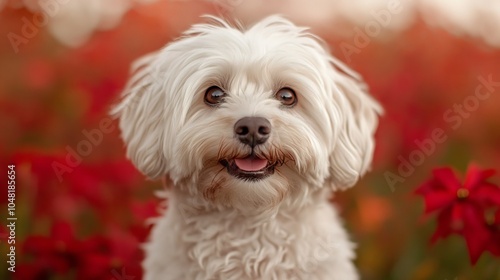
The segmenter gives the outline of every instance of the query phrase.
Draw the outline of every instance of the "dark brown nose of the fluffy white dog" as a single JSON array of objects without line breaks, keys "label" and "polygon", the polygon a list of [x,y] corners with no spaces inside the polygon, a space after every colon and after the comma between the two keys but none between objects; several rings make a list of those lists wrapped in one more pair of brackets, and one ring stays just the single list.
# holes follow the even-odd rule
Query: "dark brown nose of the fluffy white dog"
[{"label": "dark brown nose of the fluffy white dog", "polygon": [[261,117],[241,118],[234,124],[234,133],[241,143],[253,148],[267,141],[271,133],[271,123]]}]

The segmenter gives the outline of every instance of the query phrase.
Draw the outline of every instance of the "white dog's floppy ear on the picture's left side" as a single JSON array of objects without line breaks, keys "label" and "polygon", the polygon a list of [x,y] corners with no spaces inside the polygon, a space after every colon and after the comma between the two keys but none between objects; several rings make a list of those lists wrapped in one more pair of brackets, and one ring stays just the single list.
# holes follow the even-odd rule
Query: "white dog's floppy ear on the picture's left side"
[{"label": "white dog's floppy ear on the picture's left side", "polygon": [[122,94],[122,100],[111,114],[119,119],[122,138],[127,146],[127,157],[144,175],[157,178],[166,171],[162,152],[164,103],[162,94],[154,89],[150,70],[155,54],[139,59],[133,66],[133,75]]}]

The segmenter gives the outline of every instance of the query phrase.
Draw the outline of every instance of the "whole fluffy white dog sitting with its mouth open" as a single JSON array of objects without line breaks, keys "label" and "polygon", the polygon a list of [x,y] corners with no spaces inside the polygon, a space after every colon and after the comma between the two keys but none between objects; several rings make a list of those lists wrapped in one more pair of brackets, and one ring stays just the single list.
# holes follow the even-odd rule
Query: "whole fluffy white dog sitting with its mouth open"
[{"label": "whole fluffy white dog sitting with its mouth open", "polygon": [[114,111],[168,185],[145,279],[357,279],[329,196],[367,171],[380,106],[306,28],[211,19],[140,59]]}]

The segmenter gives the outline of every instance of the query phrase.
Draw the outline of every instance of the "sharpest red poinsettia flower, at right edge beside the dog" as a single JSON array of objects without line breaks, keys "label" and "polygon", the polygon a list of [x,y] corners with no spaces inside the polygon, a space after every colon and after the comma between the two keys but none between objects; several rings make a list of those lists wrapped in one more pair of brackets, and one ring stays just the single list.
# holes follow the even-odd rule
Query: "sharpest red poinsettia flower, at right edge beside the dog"
[{"label": "sharpest red poinsettia flower, at right edge beside the dog", "polygon": [[500,188],[486,181],[494,173],[471,165],[462,184],[451,168],[439,168],[415,191],[424,197],[426,214],[438,212],[431,242],[453,233],[462,235],[472,264],[494,245],[489,242],[492,232],[485,223],[485,211],[500,205]]}]

